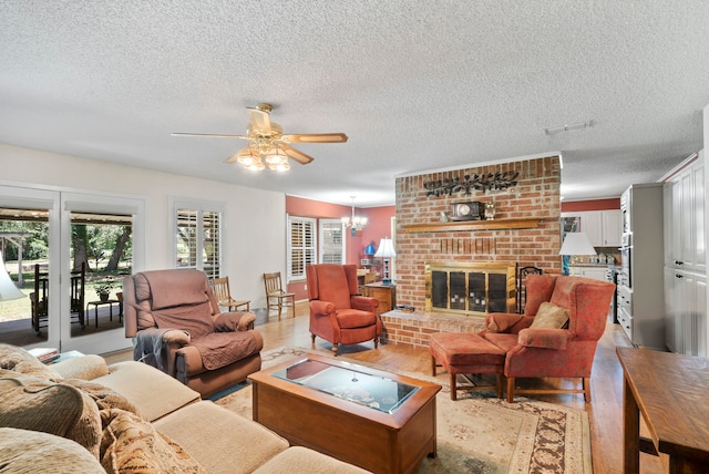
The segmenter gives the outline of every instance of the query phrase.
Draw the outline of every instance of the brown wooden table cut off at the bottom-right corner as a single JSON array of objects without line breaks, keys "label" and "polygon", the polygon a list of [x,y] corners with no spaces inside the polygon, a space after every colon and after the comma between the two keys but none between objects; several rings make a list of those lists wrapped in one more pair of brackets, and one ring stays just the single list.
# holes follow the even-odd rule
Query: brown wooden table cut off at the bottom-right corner
[{"label": "brown wooden table cut off at the bottom-right corner", "polygon": [[[709,359],[616,348],[623,365],[624,472],[640,472],[640,451],[669,455],[669,472],[709,465]],[[650,439],[639,435],[640,414]]]}]

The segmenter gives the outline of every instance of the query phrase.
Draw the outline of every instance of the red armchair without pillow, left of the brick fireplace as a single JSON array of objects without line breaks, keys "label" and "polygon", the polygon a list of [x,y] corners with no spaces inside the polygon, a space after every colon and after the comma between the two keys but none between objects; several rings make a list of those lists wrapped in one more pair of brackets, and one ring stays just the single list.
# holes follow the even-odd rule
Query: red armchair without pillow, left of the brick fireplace
[{"label": "red armchair without pillow, left of the brick fireplace", "polygon": [[379,301],[359,296],[354,265],[322,264],[306,267],[310,300],[310,334],[332,343],[337,356],[339,344],[357,344],[369,340],[379,346],[381,320]]}]

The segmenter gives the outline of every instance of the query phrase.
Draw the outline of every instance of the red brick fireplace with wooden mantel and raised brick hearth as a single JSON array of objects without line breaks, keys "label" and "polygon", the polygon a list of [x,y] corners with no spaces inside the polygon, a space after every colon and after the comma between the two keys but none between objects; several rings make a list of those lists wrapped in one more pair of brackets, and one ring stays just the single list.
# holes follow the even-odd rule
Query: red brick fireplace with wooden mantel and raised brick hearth
[{"label": "red brick fireplace with wooden mantel and raised brick hearth", "polygon": [[[558,156],[397,178],[397,303],[415,312],[382,318],[387,342],[428,347],[430,332],[482,327],[482,315],[439,313],[430,305],[425,311],[428,262],[516,264],[559,274],[559,184]],[[494,219],[443,221],[453,204],[469,202],[494,203]]]}]

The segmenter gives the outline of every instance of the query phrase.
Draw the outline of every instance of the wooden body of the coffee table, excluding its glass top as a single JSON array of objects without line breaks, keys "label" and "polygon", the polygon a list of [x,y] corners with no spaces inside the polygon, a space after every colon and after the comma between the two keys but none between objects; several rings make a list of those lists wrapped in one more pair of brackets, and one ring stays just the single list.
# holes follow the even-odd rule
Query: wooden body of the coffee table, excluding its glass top
[{"label": "wooden body of the coffee table, excluding its glass top", "polygon": [[[340,363],[312,354],[308,359],[333,365]],[[291,444],[314,449],[374,473],[410,473],[424,456],[435,456],[435,394],[441,390],[440,385],[359,368],[367,373],[419,387],[389,414],[270,375],[298,360],[302,358],[249,375],[255,421]]]}]

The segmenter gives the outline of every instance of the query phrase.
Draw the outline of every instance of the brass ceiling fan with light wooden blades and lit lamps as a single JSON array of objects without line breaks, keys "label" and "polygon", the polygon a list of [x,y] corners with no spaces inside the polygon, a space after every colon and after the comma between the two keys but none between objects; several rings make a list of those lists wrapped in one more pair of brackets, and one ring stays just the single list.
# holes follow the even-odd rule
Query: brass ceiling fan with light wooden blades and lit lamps
[{"label": "brass ceiling fan with light wooden blades and lit lamps", "polygon": [[261,171],[268,167],[275,171],[290,168],[288,158],[301,165],[312,162],[312,156],[290,146],[290,143],[345,143],[343,133],[314,133],[284,135],[284,130],[276,122],[270,121],[270,104],[258,104],[247,107],[249,124],[246,135],[222,135],[210,133],[173,133],[174,136],[202,136],[212,138],[242,138],[250,143],[226,159],[227,163],[239,163],[247,169]]}]

